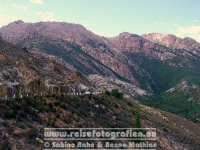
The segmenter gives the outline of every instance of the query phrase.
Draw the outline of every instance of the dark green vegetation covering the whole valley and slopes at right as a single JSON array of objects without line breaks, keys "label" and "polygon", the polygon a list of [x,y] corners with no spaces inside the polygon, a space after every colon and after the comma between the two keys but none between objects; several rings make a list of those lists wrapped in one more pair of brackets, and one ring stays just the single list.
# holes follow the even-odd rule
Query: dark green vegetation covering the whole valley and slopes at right
[{"label": "dark green vegetation covering the whole valley and slopes at right", "polygon": [[161,61],[142,55],[131,55],[130,57],[149,73],[149,75],[144,74],[142,76],[133,70],[133,74],[140,81],[141,87],[148,90],[150,85],[154,91],[154,95],[150,97],[139,98],[143,104],[180,115],[194,122],[197,121],[196,118],[200,118],[200,105],[198,101],[190,100],[192,97],[198,100],[198,93],[194,90],[188,93],[177,91],[174,93],[166,92],[183,80],[186,80],[189,84],[194,83],[199,86],[200,70],[196,67],[200,65],[198,60],[191,61],[191,64],[182,65],[184,67],[175,67],[169,64],[178,65],[184,63],[183,58]]}]

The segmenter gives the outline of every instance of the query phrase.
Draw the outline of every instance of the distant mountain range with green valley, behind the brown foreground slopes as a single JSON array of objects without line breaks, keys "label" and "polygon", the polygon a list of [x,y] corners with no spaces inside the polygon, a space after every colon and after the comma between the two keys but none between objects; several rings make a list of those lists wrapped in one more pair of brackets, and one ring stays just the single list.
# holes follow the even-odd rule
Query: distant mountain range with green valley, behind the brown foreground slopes
[{"label": "distant mountain range with green valley, behind the brown foreground slopes", "polygon": [[[172,110],[176,94],[184,93],[184,101],[178,97],[175,107],[186,103],[190,111],[193,105],[199,106],[200,43],[191,38],[127,32],[108,38],[79,24],[21,20],[0,28],[0,37],[31,54],[55,57],[70,70],[80,72],[98,90],[117,88],[126,97],[164,110]],[[188,94],[180,85],[186,86]],[[166,106],[163,102],[155,105],[157,100],[152,97],[166,93],[171,98],[164,100]],[[174,113],[183,115],[182,111],[185,109]],[[199,115],[195,111],[192,117],[183,116],[197,121]]]}]

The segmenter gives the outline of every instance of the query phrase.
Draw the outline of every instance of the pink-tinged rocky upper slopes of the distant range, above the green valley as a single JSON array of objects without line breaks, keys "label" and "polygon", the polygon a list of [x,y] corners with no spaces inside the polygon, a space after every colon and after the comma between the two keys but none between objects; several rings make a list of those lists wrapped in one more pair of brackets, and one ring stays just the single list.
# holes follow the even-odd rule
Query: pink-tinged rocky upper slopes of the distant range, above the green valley
[{"label": "pink-tinged rocky upper slopes of the distant range, above the green valley", "polygon": [[136,74],[149,76],[135,61],[135,55],[165,62],[181,57],[180,62],[168,62],[176,67],[191,67],[190,60],[200,56],[200,44],[190,38],[156,33],[139,36],[127,32],[106,38],[81,25],[64,22],[16,21],[2,27],[0,37],[28,50],[55,55],[55,59],[85,76],[124,78],[133,85],[139,84]]}]

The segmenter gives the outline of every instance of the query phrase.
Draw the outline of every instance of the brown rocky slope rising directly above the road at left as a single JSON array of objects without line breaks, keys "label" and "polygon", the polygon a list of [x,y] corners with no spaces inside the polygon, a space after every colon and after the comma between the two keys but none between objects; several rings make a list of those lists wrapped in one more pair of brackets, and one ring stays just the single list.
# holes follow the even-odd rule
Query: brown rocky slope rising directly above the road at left
[{"label": "brown rocky slope rising directly above the road at left", "polygon": [[80,92],[92,85],[79,72],[37,53],[0,40],[0,97]]}]

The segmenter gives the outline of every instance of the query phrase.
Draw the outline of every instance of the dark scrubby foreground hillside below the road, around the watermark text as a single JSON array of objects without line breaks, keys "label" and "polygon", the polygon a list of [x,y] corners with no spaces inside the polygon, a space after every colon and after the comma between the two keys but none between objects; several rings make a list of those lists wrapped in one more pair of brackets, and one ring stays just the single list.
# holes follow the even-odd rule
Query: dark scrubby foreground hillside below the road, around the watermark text
[{"label": "dark scrubby foreground hillside below the road, around the watermark text", "polygon": [[[1,149],[41,149],[44,127],[157,128],[157,149],[198,150],[200,127],[170,113],[105,95],[47,95],[0,103]],[[186,133],[187,132],[187,133]]]}]

